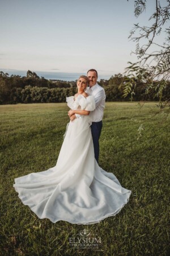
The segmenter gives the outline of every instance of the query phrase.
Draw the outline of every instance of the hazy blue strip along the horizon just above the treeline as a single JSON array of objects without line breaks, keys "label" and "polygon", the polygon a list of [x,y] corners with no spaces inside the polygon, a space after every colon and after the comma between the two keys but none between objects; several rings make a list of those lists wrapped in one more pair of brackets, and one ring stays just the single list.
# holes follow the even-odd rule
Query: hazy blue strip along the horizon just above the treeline
[{"label": "hazy blue strip along the horizon just above the treeline", "polygon": [[[27,76],[27,71],[20,71],[16,69],[4,69],[0,68],[0,71],[4,73],[8,73],[8,75],[19,75],[19,76]],[[32,71],[32,70],[31,70]],[[80,75],[86,75],[83,73],[64,73],[64,72],[43,72],[43,71],[32,71],[35,72],[39,77],[43,76],[45,79],[56,79],[63,81],[75,81],[78,79]],[[109,79],[111,76],[99,76],[98,81],[100,79]]]}]

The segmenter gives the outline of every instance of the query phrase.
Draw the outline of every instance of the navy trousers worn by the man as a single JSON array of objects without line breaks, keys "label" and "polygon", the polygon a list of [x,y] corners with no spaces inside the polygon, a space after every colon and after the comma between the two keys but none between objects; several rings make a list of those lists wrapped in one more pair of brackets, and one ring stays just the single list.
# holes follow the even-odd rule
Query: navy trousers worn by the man
[{"label": "navy trousers worn by the man", "polygon": [[95,159],[97,163],[99,161],[99,138],[100,138],[102,126],[103,126],[102,121],[92,122],[92,125],[91,125],[91,134],[94,142]]}]

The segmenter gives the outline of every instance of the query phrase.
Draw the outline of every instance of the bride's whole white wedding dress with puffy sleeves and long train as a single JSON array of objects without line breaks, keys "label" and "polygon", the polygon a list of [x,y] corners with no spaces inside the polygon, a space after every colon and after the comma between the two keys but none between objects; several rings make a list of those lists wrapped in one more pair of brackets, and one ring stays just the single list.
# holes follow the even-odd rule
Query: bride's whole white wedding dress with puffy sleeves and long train
[{"label": "bride's whole white wedding dress with puffy sleeves and long train", "polygon": [[[67,97],[71,109],[94,110],[94,96]],[[88,115],[70,121],[56,166],[18,177],[13,185],[20,200],[39,217],[52,222],[95,224],[114,216],[129,201],[111,172],[97,164]]]}]

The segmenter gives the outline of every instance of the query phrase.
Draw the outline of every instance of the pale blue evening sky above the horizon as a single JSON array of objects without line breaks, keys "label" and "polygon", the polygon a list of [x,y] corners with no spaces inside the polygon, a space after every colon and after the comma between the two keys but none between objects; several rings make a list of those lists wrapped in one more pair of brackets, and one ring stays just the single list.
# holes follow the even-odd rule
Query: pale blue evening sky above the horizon
[{"label": "pale blue evening sky above the horizon", "polygon": [[[163,2],[165,2],[163,0]],[[0,71],[28,69],[85,74],[95,68],[107,79],[137,61],[128,39],[134,23],[148,24],[155,0],[134,16],[133,0],[0,0]],[[162,38],[159,38],[160,41]],[[48,75],[47,75],[48,74]]]}]

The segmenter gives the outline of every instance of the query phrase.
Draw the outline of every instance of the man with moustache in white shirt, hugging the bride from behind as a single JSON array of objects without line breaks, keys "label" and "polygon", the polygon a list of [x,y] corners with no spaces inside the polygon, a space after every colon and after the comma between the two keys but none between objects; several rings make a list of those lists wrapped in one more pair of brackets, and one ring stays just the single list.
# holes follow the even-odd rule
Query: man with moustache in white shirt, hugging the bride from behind
[{"label": "man with moustache in white shirt, hugging the bride from behind", "polygon": [[[103,87],[97,84],[97,71],[96,69],[90,69],[87,71],[87,77],[89,80],[89,87],[86,92],[88,95],[92,95],[95,98],[96,108],[94,111],[91,111],[89,117],[92,121],[91,125],[91,134],[94,142],[94,151],[95,151],[95,159],[98,163],[99,161],[99,138],[101,134],[101,129],[103,126],[103,114],[105,107],[105,91]],[[71,119],[75,119],[78,115],[71,116]]]}]

